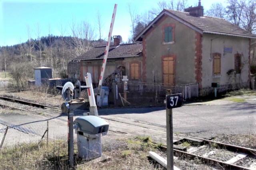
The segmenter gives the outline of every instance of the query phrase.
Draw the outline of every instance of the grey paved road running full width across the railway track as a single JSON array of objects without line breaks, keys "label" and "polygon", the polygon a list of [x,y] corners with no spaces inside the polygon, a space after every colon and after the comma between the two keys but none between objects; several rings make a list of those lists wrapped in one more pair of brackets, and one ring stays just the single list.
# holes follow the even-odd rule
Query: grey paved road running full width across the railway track
[{"label": "grey paved road running full width across the railway track", "polygon": [[[255,133],[256,98],[254,96],[248,98],[243,96],[243,98],[245,102],[242,103],[229,102],[225,99],[173,109],[174,133],[202,138],[214,137],[221,133]],[[150,135],[156,142],[166,140],[165,107],[98,109],[98,112],[100,117],[110,123],[108,137]],[[76,115],[74,119],[79,116],[81,115]],[[49,120],[50,138],[66,139],[68,131],[66,115],[49,117],[10,110],[0,111],[0,139],[7,125],[20,125],[18,129],[8,130],[5,145],[28,140],[38,141],[46,130],[47,120]]]}]

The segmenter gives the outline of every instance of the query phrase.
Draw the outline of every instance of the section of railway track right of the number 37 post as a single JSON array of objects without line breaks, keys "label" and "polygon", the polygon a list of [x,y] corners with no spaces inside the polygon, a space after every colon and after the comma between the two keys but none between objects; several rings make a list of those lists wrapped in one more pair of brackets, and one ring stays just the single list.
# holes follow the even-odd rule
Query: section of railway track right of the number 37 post
[{"label": "section of railway track right of the number 37 post", "polygon": [[[161,148],[166,150],[166,147]],[[196,137],[184,136],[184,139],[175,141],[174,156],[180,159],[201,160],[217,169],[256,170],[255,149]]]}]

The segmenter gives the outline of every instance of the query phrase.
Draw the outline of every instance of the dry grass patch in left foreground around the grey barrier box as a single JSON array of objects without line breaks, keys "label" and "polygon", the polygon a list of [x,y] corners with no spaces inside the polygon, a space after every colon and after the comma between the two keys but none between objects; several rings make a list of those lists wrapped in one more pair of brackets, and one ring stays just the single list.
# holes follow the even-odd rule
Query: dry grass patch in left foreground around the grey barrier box
[{"label": "dry grass patch in left foreground around the grey barrier box", "polygon": [[[110,146],[109,146],[110,145]],[[102,155],[110,156],[111,161],[97,162],[81,160],[74,144],[74,169],[76,170],[158,170],[148,160],[148,151],[156,151],[150,137],[134,137],[128,140],[114,140]],[[0,151],[2,170],[68,170],[68,142],[59,140],[48,143],[22,143],[5,147]]]}]

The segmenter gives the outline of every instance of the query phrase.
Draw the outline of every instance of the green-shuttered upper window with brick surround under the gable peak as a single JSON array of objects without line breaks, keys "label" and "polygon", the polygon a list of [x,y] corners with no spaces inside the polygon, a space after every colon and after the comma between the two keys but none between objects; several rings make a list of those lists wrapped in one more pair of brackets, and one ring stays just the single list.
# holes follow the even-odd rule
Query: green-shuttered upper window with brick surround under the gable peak
[{"label": "green-shuttered upper window with brick surround under the gable peak", "polygon": [[162,25],[162,44],[174,44],[174,23]]}]

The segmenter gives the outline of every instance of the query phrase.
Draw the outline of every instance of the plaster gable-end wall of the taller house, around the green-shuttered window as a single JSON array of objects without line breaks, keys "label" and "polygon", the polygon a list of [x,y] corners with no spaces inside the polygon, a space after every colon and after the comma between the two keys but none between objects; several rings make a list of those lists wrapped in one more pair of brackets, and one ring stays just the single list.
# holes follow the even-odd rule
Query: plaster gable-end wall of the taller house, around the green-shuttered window
[{"label": "plaster gable-end wall of the taller house, around the green-shuttered window", "polygon": [[[174,43],[163,44],[162,25],[174,23]],[[162,83],[162,56],[175,55],[174,84],[188,84],[195,79],[195,31],[164,16],[144,38],[146,47],[146,82]],[[169,49],[169,50],[168,50]]]}]

